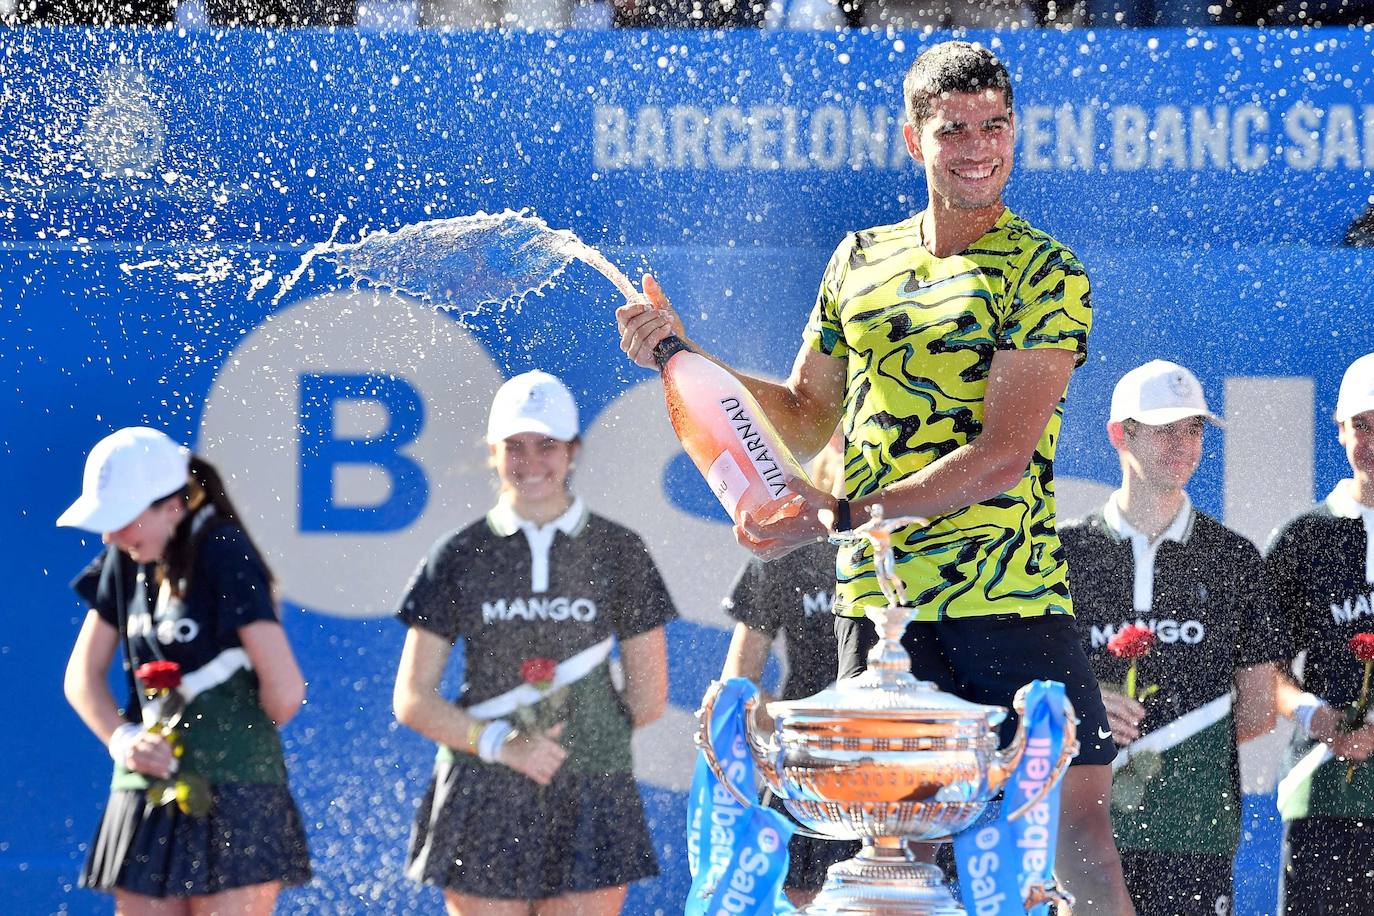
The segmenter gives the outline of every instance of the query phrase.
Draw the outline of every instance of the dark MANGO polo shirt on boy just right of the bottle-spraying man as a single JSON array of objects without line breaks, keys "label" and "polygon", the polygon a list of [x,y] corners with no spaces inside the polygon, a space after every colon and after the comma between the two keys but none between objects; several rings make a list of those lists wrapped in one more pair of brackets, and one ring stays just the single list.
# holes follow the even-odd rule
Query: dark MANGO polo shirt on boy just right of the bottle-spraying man
[{"label": "dark MANGO polo shirt on boy just right of the bottle-spraying man", "polygon": [[[1136,689],[1158,687],[1145,700],[1140,739],[1114,762],[1117,847],[1210,856],[1216,861],[1197,860],[1210,873],[1231,861],[1241,836],[1235,672],[1283,659],[1260,552],[1190,503],[1150,544],[1118,504],[1113,494],[1103,509],[1059,526],[1074,615],[1098,680],[1116,689],[1125,680],[1128,661],[1107,651],[1121,628],[1140,623],[1156,636],[1136,662]],[[1157,898],[1156,890],[1131,886],[1135,900]]]}]

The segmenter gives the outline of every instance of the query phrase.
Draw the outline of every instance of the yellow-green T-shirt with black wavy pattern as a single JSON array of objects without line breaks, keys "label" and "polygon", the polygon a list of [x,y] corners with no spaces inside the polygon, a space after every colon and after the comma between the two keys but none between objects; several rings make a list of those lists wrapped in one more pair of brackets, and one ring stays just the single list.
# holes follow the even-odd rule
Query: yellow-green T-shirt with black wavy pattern
[{"label": "yellow-green T-shirt with black wavy pattern", "polygon": [[[807,325],[809,346],[848,364],[849,499],[977,438],[998,350],[1074,350],[1079,365],[1087,358],[1088,276],[1069,249],[1010,210],[948,258],[921,244],[918,227],[914,217],[846,236]],[[893,536],[916,619],[1073,612],[1054,516],[1062,415],[1061,397],[1014,489]],[[837,614],[860,617],[885,603],[867,547],[841,548],[837,580]]]}]

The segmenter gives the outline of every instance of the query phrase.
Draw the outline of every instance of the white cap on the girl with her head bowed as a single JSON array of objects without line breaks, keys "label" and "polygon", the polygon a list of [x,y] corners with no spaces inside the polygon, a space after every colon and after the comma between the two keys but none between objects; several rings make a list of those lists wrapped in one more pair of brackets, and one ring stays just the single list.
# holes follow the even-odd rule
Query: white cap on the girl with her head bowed
[{"label": "white cap on the girl with her head bowed", "polygon": [[126,426],[95,444],[81,496],[58,525],[96,534],[118,531],[187,482],[191,450],[161,430]]}]

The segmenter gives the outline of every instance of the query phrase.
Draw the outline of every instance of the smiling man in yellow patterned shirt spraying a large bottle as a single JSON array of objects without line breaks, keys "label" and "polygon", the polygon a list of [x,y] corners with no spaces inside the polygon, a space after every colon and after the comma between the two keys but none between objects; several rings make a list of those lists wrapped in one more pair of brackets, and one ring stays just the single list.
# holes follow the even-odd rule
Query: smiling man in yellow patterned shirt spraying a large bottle
[{"label": "smiling man in yellow patterned shirt spraying a large bottle", "polygon": [[[746,516],[736,537],[769,559],[867,520],[878,504],[889,518],[930,519],[893,536],[916,617],[903,640],[912,670],[1002,706],[1035,678],[1065,684],[1083,750],[1065,777],[1058,873],[1076,912],[1131,913],[1107,817],[1116,748],[1055,533],[1054,450],[1069,376],[1087,358],[1088,277],[1002,202],[1011,93],[1006,66],[966,41],[933,45],[911,66],[903,132],[926,209],[840,243],[786,382],[735,372],[798,456],[842,423],[845,496],[794,482],[794,516]],[[625,353],[651,368],[658,342],[687,338],[653,277],[644,294],[617,320]],[[886,599],[866,548],[840,551],[837,578],[848,677],[877,641],[864,612]]]}]

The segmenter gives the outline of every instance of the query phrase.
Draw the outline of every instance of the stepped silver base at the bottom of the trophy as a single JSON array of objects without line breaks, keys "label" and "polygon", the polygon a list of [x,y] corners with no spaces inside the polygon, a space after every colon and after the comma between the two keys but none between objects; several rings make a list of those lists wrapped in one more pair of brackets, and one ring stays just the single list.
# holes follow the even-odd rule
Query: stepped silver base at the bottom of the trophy
[{"label": "stepped silver base at the bottom of the trophy", "polygon": [[[900,843],[901,840],[899,840]],[[903,847],[866,843],[831,865],[805,916],[966,916],[938,867],[911,861]]]}]

